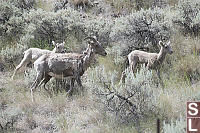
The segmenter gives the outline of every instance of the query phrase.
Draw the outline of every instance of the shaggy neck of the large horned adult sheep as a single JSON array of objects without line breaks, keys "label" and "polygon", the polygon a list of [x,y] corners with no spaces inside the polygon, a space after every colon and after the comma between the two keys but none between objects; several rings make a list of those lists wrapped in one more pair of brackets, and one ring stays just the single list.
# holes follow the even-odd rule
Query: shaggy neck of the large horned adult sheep
[{"label": "shaggy neck of the large horned adult sheep", "polygon": [[88,48],[85,52],[85,56],[83,57],[83,71],[86,71],[89,67],[91,61],[94,59],[95,53],[93,49]]}]

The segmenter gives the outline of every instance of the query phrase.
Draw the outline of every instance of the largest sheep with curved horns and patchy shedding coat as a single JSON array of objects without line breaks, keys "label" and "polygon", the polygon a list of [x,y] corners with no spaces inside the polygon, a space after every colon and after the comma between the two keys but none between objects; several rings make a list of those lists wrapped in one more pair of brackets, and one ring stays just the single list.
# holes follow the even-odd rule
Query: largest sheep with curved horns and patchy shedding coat
[{"label": "largest sheep with curved horns and patchy shedding coat", "polygon": [[[88,48],[82,54],[66,53],[66,54],[47,54],[38,58],[34,63],[37,72],[36,80],[31,86],[31,96],[33,100],[33,90],[41,84],[46,83],[52,78],[72,77],[70,89],[67,94],[72,92],[74,81],[82,88],[80,77],[89,67],[95,54],[106,56],[107,53],[101,44],[94,37],[85,38],[88,40]],[[47,89],[46,89],[47,90]]]}]

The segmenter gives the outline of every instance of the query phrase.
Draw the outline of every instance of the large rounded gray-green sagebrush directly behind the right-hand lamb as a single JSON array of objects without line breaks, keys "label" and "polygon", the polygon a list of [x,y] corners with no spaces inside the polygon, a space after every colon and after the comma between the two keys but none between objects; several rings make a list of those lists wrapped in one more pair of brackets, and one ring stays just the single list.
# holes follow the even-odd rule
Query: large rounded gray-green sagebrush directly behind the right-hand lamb
[{"label": "large rounded gray-green sagebrush directly behind the right-hand lamb", "polygon": [[158,49],[158,41],[170,38],[170,22],[165,10],[141,10],[116,20],[110,37],[121,41],[125,48],[149,47]]}]

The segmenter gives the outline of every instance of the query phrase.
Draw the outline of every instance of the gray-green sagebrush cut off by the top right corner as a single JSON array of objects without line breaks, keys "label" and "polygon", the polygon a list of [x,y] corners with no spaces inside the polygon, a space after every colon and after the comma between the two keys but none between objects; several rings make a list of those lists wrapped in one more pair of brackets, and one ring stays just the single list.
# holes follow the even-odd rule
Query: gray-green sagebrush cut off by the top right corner
[{"label": "gray-green sagebrush cut off by the top right corner", "polygon": [[177,7],[178,15],[173,22],[183,34],[198,36],[200,32],[199,0],[181,0]]}]

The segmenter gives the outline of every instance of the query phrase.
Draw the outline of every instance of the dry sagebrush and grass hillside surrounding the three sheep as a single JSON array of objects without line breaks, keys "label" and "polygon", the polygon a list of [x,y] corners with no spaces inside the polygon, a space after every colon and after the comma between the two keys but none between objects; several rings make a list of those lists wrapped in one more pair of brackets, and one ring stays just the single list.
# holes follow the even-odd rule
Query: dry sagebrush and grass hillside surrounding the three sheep
[{"label": "dry sagebrush and grass hillside surrounding the three sheep", "polygon": [[[199,0],[0,0],[0,132],[152,133],[185,132],[185,103],[200,100]],[[65,41],[67,52],[87,47],[83,38],[96,36],[106,57],[96,56],[66,96],[69,79],[51,79],[50,93],[39,87],[35,102],[30,86],[36,71],[11,80],[13,70],[31,47],[52,50],[52,40]],[[160,71],[144,66],[136,77],[126,70],[132,50],[158,52],[170,41],[173,54]]]}]

